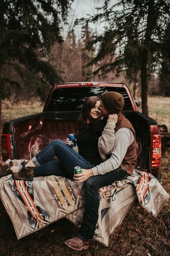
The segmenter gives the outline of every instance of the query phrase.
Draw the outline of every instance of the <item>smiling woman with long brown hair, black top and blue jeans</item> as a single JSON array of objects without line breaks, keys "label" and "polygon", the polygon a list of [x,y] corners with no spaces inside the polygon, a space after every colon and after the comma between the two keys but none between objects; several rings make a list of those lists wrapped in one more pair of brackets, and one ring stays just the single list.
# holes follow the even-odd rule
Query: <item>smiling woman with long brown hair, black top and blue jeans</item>
[{"label": "smiling woman with long brown hair, black top and blue jeans", "polygon": [[[61,140],[53,140],[46,148],[33,157],[32,161],[27,163],[25,167],[23,166],[19,172],[13,173],[13,178],[33,180],[34,176],[48,175],[73,178],[75,166],[91,169],[101,163],[98,139],[104,129],[105,120],[100,120],[99,104],[100,99],[92,96],[87,98],[82,106],[76,127],[79,153],[68,147],[68,139],[68,145]],[[103,142],[105,143],[105,140]],[[53,160],[54,156],[57,156],[58,159]],[[11,167],[11,170],[14,171],[14,167]]]}]

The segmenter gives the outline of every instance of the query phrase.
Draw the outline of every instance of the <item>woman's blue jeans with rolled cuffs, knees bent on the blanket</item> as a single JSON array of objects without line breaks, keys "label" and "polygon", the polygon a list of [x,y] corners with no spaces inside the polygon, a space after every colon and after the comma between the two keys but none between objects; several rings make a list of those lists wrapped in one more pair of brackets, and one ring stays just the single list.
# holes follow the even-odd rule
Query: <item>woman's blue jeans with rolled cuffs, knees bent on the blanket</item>
[{"label": "woman's blue jeans with rolled cuffs, knees bent on the blanket", "polygon": [[[54,156],[58,159],[53,160]],[[53,140],[32,161],[37,166],[34,168],[35,177],[56,175],[73,178],[75,166],[82,169],[94,167],[62,140]]]}]

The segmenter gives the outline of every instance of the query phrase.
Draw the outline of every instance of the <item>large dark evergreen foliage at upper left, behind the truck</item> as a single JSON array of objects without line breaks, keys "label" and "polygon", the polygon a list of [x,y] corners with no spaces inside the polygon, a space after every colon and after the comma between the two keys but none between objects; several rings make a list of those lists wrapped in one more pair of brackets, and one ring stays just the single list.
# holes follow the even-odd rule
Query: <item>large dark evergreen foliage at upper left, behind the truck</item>
[{"label": "large dark evergreen foliage at upper left, behind the truck", "polygon": [[24,87],[24,93],[44,97],[47,85],[61,81],[46,56],[54,43],[62,42],[61,21],[66,21],[70,4],[69,0],[0,0],[1,95],[9,95],[10,87],[22,95]]}]

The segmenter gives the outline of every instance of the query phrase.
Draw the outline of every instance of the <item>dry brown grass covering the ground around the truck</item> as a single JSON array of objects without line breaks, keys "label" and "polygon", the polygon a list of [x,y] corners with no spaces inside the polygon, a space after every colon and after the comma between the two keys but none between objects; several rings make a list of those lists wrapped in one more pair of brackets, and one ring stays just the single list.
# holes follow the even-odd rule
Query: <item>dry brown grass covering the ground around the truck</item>
[{"label": "dry brown grass covering the ground around the truck", "polygon": [[[165,98],[166,99],[166,98]],[[157,97],[153,103],[157,102],[157,107],[164,111],[165,99]],[[160,103],[159,103],[160,100]],[[150,102],[150,101],[149,101]],[[153,104],[152,103],[152,104]],[[18,109],[21,110],[12,112],[12,109],[17,107],[9,106],[9,109],[4,109],[3,121],[40,112],[42,106],[40,102],[24,103],[27,108],[24,109],[24,104],[18,104]],[[34,107],[35,104],[35,108]],[[166,102],[167,108],[168,101]],[[5,103],[4,103],[5,105]],[[11,109],[11,111],[10,111]],[[150,113],[153,112],[155,106],[150,107]],[[166,124],[169,112],[166,117],[166,111],[160,115],[157,113],[160,124]],[[165,116],[164,116],[165,115]],[[151,116],[151,114],[150,114]],[[152,117],[152,116],[151,116]],[[167,120],[167,123],[169,120]],[[168,125],[167,125],[168,126]],[[170,194],[170,152],[167,151],[167,139],[164,139],[162,145],[162,165],[161,172],[163,175],[162,185]],[[82,256],[168,256],[170,255],[170,200],[162,208],[159,215],[154,218],[145,209],[134,203],[131,210],[123,220],[123,223],[118,230],[113,234],[109,246],[105,247],[100,243],[93,241],[88,250],[75,252],[67,248],[63,241],[71,238],[76,234],[77,228],[66,219],[61,219],[56,223],[28,235],[20,240],[17,240],[11,220],[0,202],[0,255],[1,256],[65,256],[65,255],[82,255]]]}]

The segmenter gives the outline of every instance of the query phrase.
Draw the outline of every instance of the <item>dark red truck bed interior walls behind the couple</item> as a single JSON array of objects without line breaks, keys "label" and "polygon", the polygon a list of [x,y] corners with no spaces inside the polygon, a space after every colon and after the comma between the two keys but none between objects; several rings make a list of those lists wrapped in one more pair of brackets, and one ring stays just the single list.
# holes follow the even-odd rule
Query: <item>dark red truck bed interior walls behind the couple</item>
[{"label": "dark red truck bed interior walls behind the couple", "polygon": [[[124,111],[124,116],[132,123],[136,132],[136,168],[148,169],[150,125],[157,124],[151,118],[137,111]],[[33,144],[41,151],[54,139],[65,141],[69,133],[75,133],[76,119],[79,111],[42,112],[36,115],[12,120],[8,127],[13,139],[12,159],[27,159]],[[7,125],[8,124],[8,125]],[[3,130],[3,134],[9,133]],[[4,159],[5,160],[5,159]]]}]

